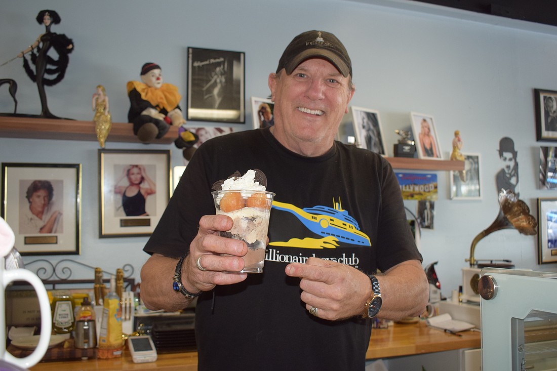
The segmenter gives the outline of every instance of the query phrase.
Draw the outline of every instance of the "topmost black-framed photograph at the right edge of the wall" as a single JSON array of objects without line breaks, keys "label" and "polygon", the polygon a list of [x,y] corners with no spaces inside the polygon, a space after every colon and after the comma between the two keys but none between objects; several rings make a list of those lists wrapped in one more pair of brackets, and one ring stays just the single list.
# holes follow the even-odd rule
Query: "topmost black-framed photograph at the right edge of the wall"
[{"label": "topmost black-framed photograph at the right edge of the wall", "polygon": [[557,91],[534,89],[536,139],[557,141]]}]

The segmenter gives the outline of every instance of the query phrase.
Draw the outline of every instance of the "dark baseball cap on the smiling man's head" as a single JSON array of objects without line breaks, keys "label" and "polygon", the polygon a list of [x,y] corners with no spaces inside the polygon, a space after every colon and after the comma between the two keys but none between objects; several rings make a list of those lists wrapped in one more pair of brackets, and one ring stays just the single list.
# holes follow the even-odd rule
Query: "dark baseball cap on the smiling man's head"
[{"label": "dark baseball cap on the smiling man's head", "polygon": [[316,30],[300,33],[290,42],[278,61],[277,74],[285,69],[290,75],[309,58],[324,58],[335,65],[344,77],[352,76],[352,62],[343,43],[330,32]]}]

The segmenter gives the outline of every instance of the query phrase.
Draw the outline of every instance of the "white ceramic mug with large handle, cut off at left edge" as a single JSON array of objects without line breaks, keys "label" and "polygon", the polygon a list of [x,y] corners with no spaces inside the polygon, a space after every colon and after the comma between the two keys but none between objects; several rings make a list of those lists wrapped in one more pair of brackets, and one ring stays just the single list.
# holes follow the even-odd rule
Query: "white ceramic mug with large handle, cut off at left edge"
[{"label": "white ceramic mug with large handle, cut off at left edge", "polygon": [[[8,226],[4,219],[0,218],[0,359],[19,367],[30,368],[41,362],[48,349],[48,343],[50,343],[52,331],[50,300],[48,300],[45,285],[33,272],[21,268],[6,270],[4,257],[12,250],[15,240],[12,228]],[[41,336],[37,348],[24,358],[14,357],[6,350],[6,299],[4,292],[9,282],[12,281],[29,282],[37,292],[41,310]]]}]

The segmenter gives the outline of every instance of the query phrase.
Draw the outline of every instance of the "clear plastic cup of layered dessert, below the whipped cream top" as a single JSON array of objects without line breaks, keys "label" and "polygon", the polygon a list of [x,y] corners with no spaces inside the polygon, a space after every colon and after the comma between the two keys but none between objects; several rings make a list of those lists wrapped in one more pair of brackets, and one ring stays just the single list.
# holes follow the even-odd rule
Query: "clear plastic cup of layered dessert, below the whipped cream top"
[{"label": "clear plastic cup of layered dessert, below the whipped cream top", "polygon": [[246,242],[245,267],[240,272],[261,273],[265,264],[265,247],[269,229],[269,216],[275,193],[249,189],[215,191],[211,193],[217,214],[232,218],[234,226],[220,236]]}]

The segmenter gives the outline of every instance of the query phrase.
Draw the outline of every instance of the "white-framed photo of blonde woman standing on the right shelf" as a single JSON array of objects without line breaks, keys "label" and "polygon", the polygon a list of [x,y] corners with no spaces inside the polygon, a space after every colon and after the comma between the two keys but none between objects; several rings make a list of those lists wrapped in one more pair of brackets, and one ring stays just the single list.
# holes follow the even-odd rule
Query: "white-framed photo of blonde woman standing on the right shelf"
[{"label": "white-framed photo of blonde woman standing on the right shelf", "polygon": [[433,116],[412,112],[412,131],[418,158],[428,160],[442,160],[443,155],[439,147],[437,130],[433,123]]}]

